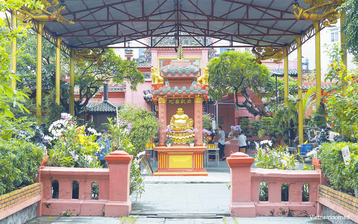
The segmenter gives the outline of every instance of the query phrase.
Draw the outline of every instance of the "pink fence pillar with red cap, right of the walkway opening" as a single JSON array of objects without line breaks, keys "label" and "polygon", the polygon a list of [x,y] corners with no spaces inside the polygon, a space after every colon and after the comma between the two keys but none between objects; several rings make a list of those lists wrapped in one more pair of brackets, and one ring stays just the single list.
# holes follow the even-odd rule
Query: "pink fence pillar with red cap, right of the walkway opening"
[{"label": "pink fence pillar with red cap, right of the walkway opening", "polygon": [[235,152],[226,158],[230,167],[229,212],[234,217],[256,217],[256,207],[251,201],[251,165],[254,158]]}]

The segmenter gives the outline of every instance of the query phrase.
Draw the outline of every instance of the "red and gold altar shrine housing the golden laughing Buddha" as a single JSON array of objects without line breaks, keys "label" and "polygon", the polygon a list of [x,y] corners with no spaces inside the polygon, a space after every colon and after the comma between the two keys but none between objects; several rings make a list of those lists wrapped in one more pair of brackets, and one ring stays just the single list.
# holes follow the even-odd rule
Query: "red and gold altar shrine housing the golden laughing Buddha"
[{"label": "red and gold altar shrine housing the golden laughing Buddha", "polygon": [[[152,67],[153,101],[158,102],[158,170],[154,176],[207,176],[203,168],[202,105],[208,94],[208,70],[200,59],[184,58],[179,46],[176,59],[161,59],[159,72]],[[196,85],[195,84],[196,81]],[[167,145],[166,139],[172,144]],[[189,142],[195,144],[193,147]]]}]

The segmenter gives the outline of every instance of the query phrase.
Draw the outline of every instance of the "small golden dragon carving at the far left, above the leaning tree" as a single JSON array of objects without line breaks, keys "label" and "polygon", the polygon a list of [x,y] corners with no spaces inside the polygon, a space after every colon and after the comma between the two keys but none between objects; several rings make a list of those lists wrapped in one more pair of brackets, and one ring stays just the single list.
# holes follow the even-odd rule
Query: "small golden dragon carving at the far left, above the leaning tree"
[{"label": "small golden dragon carving at the far left, above the leaning tree", "polygon": [[[96,62],[98,67],[101,67],[104,60],[102,60],[102,55],[105,53],[105,49],[94,48],[92,51],[88,48],[83,48],[81,51],[74,48],[74,61],[78,66],[84,66],[84,61]],[[92,52],[92,53],[91,53]]]}]

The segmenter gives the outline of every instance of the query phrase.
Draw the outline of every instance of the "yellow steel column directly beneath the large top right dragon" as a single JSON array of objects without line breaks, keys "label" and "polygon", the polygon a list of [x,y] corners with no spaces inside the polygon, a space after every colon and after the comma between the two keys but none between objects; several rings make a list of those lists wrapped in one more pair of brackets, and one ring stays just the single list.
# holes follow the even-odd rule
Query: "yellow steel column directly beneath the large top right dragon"
[{"label": "yellow steel column directly beneath the large top right dragon", "polygon": [[316,104],[321,102],[321,39],[319,32],[319,21],[314,21],[316,39]]}]

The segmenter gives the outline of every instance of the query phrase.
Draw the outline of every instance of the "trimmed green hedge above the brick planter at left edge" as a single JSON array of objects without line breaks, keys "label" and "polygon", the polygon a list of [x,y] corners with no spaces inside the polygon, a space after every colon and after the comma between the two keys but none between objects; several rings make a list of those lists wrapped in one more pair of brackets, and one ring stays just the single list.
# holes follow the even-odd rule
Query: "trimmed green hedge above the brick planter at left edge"
[{"label": "trimmed green hedge above the brick planter at left edge", "polygon": [[0,195],[34,182],[43,150],[25,139],[0,138]]}]

